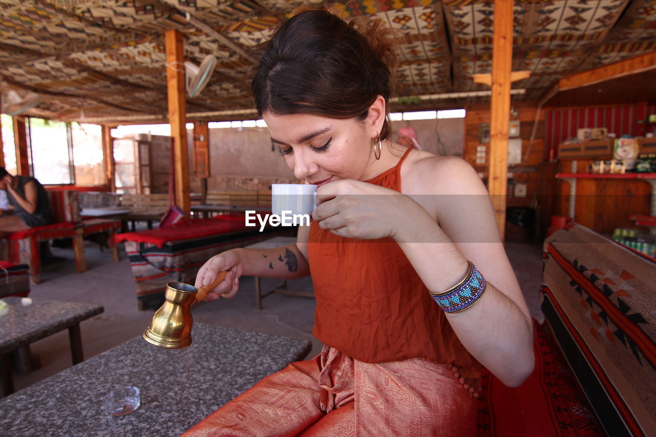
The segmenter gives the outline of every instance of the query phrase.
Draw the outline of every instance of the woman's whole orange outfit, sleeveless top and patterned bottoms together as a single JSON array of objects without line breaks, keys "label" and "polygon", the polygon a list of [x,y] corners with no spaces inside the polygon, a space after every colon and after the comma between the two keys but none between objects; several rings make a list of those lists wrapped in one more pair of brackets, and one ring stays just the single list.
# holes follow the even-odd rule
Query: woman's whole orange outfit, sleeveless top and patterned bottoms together
[{"label": "woman's whole orange outfit, sleeveless top and patterned bottoms together", "polygon": [[[399,190],[403,159],[369,182]],[[480,365],[398,245],[313,223],[308,252],[321,354],[262,379],[184,437],[476,436],[478,403],[449,364],[476,379]]]}]

